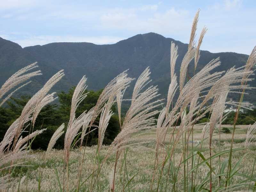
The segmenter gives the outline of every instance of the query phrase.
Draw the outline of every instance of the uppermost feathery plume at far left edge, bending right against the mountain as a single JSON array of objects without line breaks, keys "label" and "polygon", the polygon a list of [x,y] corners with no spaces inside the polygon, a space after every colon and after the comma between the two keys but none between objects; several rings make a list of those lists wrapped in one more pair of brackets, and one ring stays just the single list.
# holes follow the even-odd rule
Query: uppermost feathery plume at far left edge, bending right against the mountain
[{"label": "uppermost feathery plume at far left edge, bending right against the mountain", "polygon": [[[5,93],[9,92],[12,88],[14,88],[15,86],[27,81],[28,79],[30,79],[31,77],[34,76],[38,76],[38,75],[42,75],[41,71],[34,71],[31,73],[27,73],[28,71],[37,68],[37,62],[32,63],[30,65],[28,65],[27,67],[24,67],[22,69],[20,69],[19,71],[17,71],[16,73],[14,73],[1,87],[0,89],[0,99],[4,96]],[[27,74],[24,74],[27,73]],[[8,98],[10,96],[7,96]]]}]

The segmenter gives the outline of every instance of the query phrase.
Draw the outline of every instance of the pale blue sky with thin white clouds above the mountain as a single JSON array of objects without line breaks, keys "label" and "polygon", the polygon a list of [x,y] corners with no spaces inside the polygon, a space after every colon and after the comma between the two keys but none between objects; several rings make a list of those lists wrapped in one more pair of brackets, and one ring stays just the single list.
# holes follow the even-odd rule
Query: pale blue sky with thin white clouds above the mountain
[{"label": "pale blue sky with thin white clouds above the mountain", "polygon": [[250,54],[256,45],[255,0],[0,0],[0,37],[22,47],[52,42],[114,44],[155,32],[189,42],[200,9],[202,50]]}]

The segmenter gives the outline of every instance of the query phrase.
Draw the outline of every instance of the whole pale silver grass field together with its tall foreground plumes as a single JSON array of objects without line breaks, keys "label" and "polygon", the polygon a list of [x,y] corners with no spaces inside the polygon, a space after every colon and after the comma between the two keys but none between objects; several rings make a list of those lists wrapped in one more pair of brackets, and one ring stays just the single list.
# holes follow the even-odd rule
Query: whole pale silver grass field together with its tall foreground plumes
[{"label": "whole pale silver grass field together with its tall foreground plumes", "polygon": [[[78,116],[76,109],[88,95],[87,78],[83,76],[72,96],[68,124],[56,129],[46,151],[33,151],[33,141],[45,131],[34,130],[36,118],[42,108],[57,99],[54,92],[48,92],[65,72],[60,70],[52,76],[28,100],[0,143],[0,190],[255,191],[256,123],[237,125],[237,118],[241,108],[250,110],[243,97],[253,89],[249,84],[256,47],[243,67],[212,72],[221,65],[220,58],[216,58],[196,72],[200,45],[207,32],[204,27],[196,44],[198,18],[199,11],[179,76],[174,73],[178,47],[171,43],[170,86],[165,100],[159,99],[157,86],[150,85],[149,68],[136,80],[124,71],[107,84],[94,107]],[[188,65],[192,64],[194,75],[188,76]],[[31,77],[42,75],[40,70],[31,72],[37,67],[33,63],[22,68],[4,83],[0,106],[30,83],[27,81]],[[131,98],[123,98],[132,81],[136,83]],[[176,92],[179,96],[174,100]],[[239,100],[228,101],[229,93],[239,94]],[[123,101],[130,102],[125,115],[121,114]],[[105,146],[103,140],[114,104],[121,130]],[[222,125],[228,105],[236,106],[234,124]],[[200,124],[202,118],[207,119],[204,124]],[[88,147],[88,134],[95,130],[97,145]],[[23,132],[27,136],[22,137]],[[65,135],[64,149],[55,150],[61,135]]]}]

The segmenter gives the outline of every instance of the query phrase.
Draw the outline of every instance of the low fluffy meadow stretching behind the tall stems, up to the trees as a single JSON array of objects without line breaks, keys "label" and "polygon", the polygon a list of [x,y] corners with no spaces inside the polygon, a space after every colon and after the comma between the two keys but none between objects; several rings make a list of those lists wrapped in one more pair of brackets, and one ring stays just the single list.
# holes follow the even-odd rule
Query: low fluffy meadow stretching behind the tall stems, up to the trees
[{"label": "low fluffy meadow stretching behind the tall stems, up to the trees", "polygon": [[[202,130],[204,125],[196,125],[194,127],[194,139],[196,141],[201,141],[202,139]],[[232,125],[221,125],[221,127],[228,127],[232,129]],[[177,127],[179,128],[179,127]],[[246,140],[246,132],[248,125],[238,125],[236,128],[236,135],[234,137],[235,143],[234,148],[244,148],[244,141]],[[169,131],[169,133],[171,133]],[[117,175],[116,175],[116,191],[139,191],[146,192],[150,191],[152,172],[154,171],[154,162],[155,162],[155,136],[156,129],[148,130],[147,132],[140,132],[136,136],[139,139],[148,140],[146,143],[138,144],[135,147],[130,147],[125,150],[126,160],[122,162],[117,167]],[[213,153],[218,153],[219,150],[219,135],[215,134],[213,136]],[[220,142],[220,150],[225,151],[230,148],[230,140],[232,138],[232,133],[221,133],[220,134],[221,142]],[[191,138],[190,138],[191,139]],[[170,138],[166,139],[168,143]],[[204,157],[209,158],[209,150],[208,150],[208,142],[209,139],[205,139],[202,144],[201,151],[204,154]],[[179,145],[175,149],[175,158],[174,167],[178,167],[179,159],[182,156],[182,144]],[[248,174],[252,172],[252,165],[255,160],[255,150],[256,150],[256,142],[251,143],[250,146],[252,149],[243,149],[234,152],[232,157],[233,164],[239,162],[242,158],[242,161],[238,164],[237,170],[241,174]],[[103,146],[101,151],[100,160],[104,158],[107,153],[108,146]],[[196,143],[194,146],[194,150],[200,149],[200,143]],[[93,164],[94,158],[97,151],[97,147],[86,147],[81,148],[81,150],[85,150],[85,159],[86,162],[82,168],[82,178],[85,178],[85,182],[83,181],[80,190],[87,191],[90,188],[91,180],[86,178],[91,175],[93,172]],[[71,151],[70,158],[70,185],[69,191],[76,190],[77,184],[77,172],[79,172],[79,161],[81,158],[81,150],[74,149]],[[190,150],[190,149],[189,149]],[[61,191],[62,184],[59,185],[58,177],[61,180],[65,174],[65,165],[63,162],[63,150],[52,150],[50,153],[46,153],[45,151],[33,151],[33,158],[30,159],[29,165],[31,166],[29,169],[29,177],[28,180],[24,180],[20,185],[20,191],[38,191],[38,176],[41,175],[41,191]],[[124,153],[122,154],[122,156]],[[221,156],[220,161],[221,164],[227,163],[228,154],[224,154]],[[195,161],[198,161],[198,157],[196,157]],[[202,158],[199,158],[199,163],[203,162]],[[218,167],[219,158],[213,159],[213,166]],[[107,162],[101,168],[100,174],[100,191],[109,191],[109,170],[113,168],[115,164],[115,155],[111,155]],[[28,165],[28,163],[27,163]],[[124,171],[125,169],[125,171]],[[189,165],[190,169],[190,165]],[[167,171],[167,170],[166,170]],[[13,176],[15,178],[15,182],[19,183],[19,171],[13,172]],[[23,170],[23,175],[26,176],[26,170]],[[127,175],[126,175],[126,173]],[[209,167],[207,164],[203,164],[199,167],[198,172],[200,174],[196,175],[196,183],[200,183],[202,180],[209,180]],[[125,177],[124,177],[125,173]],[[58,176],[57,176],[58,175]],[[218,174],[214,175],[214,182],[218,185]],[[191,177],[191,175],[190,175]],[[254,172],[252,177],[256,178],[256,173]],[[232,183],[241,182],[241,176],[239,174],[235,175],[232,178]],[[165,181],[166,178],[164,178]],[[28,185],[26,185],[28,182]],[[172,183],[173,178],[170,176],[168,182]],[[160,185],[159,191],[163,191],[165,187],[165,182]],[[157,188],[156,184],[153,186],[153,191]],[[177,183],[176,183],[176,191],[183,191],[184,188],[184,180],[183,180],[183,170],[180,169],[178,173]],[[15,191],[17,186],[11,188],[9,191]],[[247,187],[231,187],[230,191],[243,190],[248,191]],[[95,189],[95,191],[97,191]],[[222,189],[220,191],[226,191]]]}]

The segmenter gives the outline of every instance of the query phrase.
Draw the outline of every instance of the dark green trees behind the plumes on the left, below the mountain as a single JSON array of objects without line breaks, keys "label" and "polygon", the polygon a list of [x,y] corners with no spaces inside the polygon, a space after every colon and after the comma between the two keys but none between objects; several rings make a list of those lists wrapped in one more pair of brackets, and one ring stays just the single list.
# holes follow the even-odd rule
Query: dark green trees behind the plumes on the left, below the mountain
[{"label": "dark green trees behind the plumes on the left, below the mountain", "polygon": [[[53,133],[58,129],[58,127],[65,123],[65,126],[68,125],[69,121],[69,114],[70,114],[70,108],[71,108],[71,101],[72,101],[72,95],[74,93],[75,87],[72,87],[67,93],[60,92],[58,93],[59,97],[59,104],[49,104],[46,105],[41,112],[39,113],[34,130],[46,130],[41,133],[40,135],[36,136],[36,139],[33,141],[32,149],[43,149],[46,150],[48,147],[48,143],[53,135]],[[88,90],[85,91],[89,92]],[[94,107],[97,103],[97,100],[100,96],[100,93],[102,90],[99,91],[90,91],[87,94],[87,97],[84,99],[83,102],[79,105],[79,107],[76,110],[76,116],[79,116],[81,113],[83,113],[85,110],[90,110],[92,107]],[[0,108],[0,140],[4,138],[4,134],[9,128],[9,126],[20,116],[22,109],[28,102],[30,97],[28,95],[21,96],[20,98],[11,98],[10,101],[7,101],[7,106],[5,108]],[[116,112],[115,107],[112,107],[112,110]],[[116,112],[117,113],[117,112]],[[100,116],[96,118],[94,124],[98,125],[98,122],[100,120]],[[30,126],[27,128],[27,132],[23,132],[22,136],[25,137],[28,135]],[[66,130],[66,127],[65,127]],[[32,130],[31,130],[32,131]],[[103,140],[103,144],[108,145],[111,144],[111,142],[114,140],[116,135],[120,131],[120,125],[117,115],[113,115],[110,120],[107,127],[107,130],[105,132],[105,137]],[[97,137],[98,137],[98,131],[95,130],[94,132],[90,133],[88,135],[87,145],[94,145],[97,143]],[[57,140],[54,148],[61,149],[64,147],[64,138],[65,133]],[[85,141],[86,141],[85,137]],[[84,144],[85,144],[84,141]]]}]

